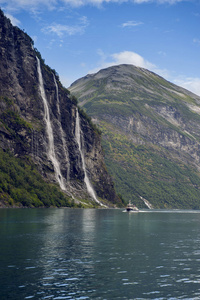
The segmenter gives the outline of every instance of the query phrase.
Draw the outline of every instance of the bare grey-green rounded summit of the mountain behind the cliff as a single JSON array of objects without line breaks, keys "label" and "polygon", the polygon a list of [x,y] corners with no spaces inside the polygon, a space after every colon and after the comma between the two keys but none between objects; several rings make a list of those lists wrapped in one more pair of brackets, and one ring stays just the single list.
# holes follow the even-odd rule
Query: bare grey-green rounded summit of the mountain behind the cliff
[{"label": "bare grey-green rounded summit of the mountain behind the cliff", "polygon": [[[90,88],[87,87],[88,82],[90,82]],[[130,92],[130,97],[132,97],[138,89],[140,90],[140,94],[142,91],[145,94],[147,92],[158,95],[162,93],[163,97],[167,97],[169,92],[175,94],[179,93],[180,95],[191,96],[196,101],[200,101],[200,97],[192,92],[165,80],[152,71],[131,64],[111,66],[101,69],[97,73],[88,74],[72,83],[69,90],[80,96],[80,94],[85,95],[85,93],[88,95],[93,91],[93,87],[98,91],[103,87],[106,88],[108,92],[119,91],[121,88],[123,92],[124,89],[127,89],[127,93]],[[82,97],[80,97],[80,99],[81,98]]]}]

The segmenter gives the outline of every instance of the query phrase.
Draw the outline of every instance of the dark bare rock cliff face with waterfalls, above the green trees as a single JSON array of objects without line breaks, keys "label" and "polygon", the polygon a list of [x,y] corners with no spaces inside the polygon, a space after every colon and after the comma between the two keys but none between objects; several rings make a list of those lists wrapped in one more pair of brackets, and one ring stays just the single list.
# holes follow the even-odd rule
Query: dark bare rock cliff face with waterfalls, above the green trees
[{"label": "dark bare rock cliff face with waterfalls, above the green trees", "polygon": [[75,200],[119,201],[98,133],[56,72],[45,65],[31,38],[13,27],[2,11],[0,147],[17,157],[31,157],[47,182],[58,184]]}]

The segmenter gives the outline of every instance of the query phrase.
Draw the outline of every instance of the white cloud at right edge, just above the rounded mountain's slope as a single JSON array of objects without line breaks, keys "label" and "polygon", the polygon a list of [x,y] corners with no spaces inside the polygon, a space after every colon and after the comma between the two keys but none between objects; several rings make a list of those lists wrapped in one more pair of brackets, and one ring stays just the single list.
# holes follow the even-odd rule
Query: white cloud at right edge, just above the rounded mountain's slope
[{"label": "white cloud at right edge, just above the rounded mountain's slope", "polygon": [[183,88],[200,96],[200,78],[198,77],[178,77],[173,82]]}]

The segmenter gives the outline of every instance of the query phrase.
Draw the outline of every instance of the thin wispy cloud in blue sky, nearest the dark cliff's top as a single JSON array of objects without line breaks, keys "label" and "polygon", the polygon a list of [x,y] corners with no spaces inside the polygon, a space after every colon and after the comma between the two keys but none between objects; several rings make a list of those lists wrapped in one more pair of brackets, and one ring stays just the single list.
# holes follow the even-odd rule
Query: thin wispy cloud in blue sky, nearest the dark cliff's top
[{"label": "thin wispy cloud in blue sky, nearest the dark cliff's top", "polygon": [[46,26],[42,29],[44,33],[54,33],[59,38],[63,35],[75,35],[75,34],[82,34],[84,33],[86,27],[89,25],[87,17],[83,16],[79,19],[78,24],[76,25],[62,25],[53,23],[50,26]]}]

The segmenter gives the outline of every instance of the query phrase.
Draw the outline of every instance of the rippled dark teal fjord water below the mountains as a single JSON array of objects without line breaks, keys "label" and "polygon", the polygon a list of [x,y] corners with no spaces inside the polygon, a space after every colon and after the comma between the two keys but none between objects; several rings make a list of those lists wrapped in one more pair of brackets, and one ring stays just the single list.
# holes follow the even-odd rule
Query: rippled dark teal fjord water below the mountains
[{"label": "rippled dark teal fjord water below the mountains", "polygon": [[200,212],[1,209],[0,299],[200,299]]}]

